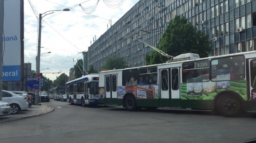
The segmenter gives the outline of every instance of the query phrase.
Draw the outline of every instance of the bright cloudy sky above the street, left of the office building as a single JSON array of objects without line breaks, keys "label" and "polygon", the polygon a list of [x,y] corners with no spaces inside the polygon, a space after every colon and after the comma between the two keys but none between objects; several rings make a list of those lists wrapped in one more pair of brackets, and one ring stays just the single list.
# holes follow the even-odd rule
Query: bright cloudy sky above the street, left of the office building
[{"label": "bright cloudy sky above the street, left of the office building", "polygon": [[[42,15],[41,54],[45,54],[40,58],[40,70],[44,76],[55,80],[61,73],[69,76],[69,69],[76,64],[73,59],[82,58],[80,52],[88,50],[95,35],[98,39],[110,28],[110,19],[113,25],[138,1],[112,0],[106,5],[106,1],[99,0],[95,10],[86,14],[81,6],[90,9],[97,0],[24,0],[24,62],[30,62],[32,70],[36,70],[39,13],[70,8],[70,11]],[[119,2],[121,6],[110,8]],[[60,74],[53,74],[60,71]]]}]

